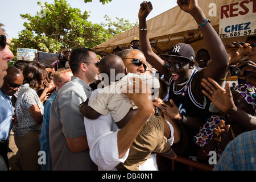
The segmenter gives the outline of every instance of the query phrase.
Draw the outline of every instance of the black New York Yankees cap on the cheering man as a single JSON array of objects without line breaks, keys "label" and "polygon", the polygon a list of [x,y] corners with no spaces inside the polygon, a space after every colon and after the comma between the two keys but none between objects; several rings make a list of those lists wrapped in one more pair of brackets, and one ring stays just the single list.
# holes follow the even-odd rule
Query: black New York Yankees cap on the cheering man
[{"label": "black New York Yankees cap on the cheering man", "polygon": [[164,57],[183,57],[189,61],[195,61],[195,51],[189,44],[179,43],[172,46],[167,55]]}]

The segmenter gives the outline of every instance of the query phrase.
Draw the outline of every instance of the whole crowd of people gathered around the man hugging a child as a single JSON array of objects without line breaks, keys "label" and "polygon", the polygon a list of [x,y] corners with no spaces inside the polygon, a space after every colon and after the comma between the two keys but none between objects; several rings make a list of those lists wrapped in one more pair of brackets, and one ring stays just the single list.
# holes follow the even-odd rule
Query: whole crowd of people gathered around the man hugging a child
[{"label": "whole crowd of people gathered around the man hugging a child", "polygon": [[[177,4],[203,35],[196,54],[187,41],[193,33],[168,53],[150,44],[152,4],[145,1],[139,38],[102,59],[76,48],[51,65],[8,67],[14,55],[0,29],[0,169],[156,171],[162,154],[213,170],[256,170],[256,36],[224,46],[197,0]],[[230,89],[233,65],[240,75]],[[18,147],[12,166],[11,130]],[[209,164],[212,152],[216,163]]]}]

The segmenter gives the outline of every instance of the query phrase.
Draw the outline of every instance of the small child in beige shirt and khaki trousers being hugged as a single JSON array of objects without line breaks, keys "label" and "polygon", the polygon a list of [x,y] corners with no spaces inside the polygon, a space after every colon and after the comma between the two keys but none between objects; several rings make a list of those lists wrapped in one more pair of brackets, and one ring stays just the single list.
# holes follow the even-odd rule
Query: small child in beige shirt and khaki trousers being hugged
[{"label": "small child in beige shirt and khaki trousers being hugged", "polygon": [[[126,89],[131,85],[132,78],[142,79],[146,82],[149,88],[158,89],[159,80],[155,77],[137,75],[133,73],[125,74],[125,65],[121,57],[117,55],[104,56],[98,64],[101,76],[105,73],[104,89],[97,89],[97,96],[90,100],[89,105],[81,104],[79,109],[84,117],[88,119],[97,119],[101,114],[106,115],[110,111],[114,122],[119,128],[122,128],[130,121],[137,113],[137,106],[133,104],[127,96],[121,94],[122,89]],[[114,73],[113,73],[114,69]],[[113,83],[109,79],[113,75],[119,80],[114,80]],[[154,97],[154,96],[152,96]],[[152,98],[149,98],[152,99]],[[152,106],[153,113],[153,106]],[[172,151],[170,143],[164,137],[164,119],[158,115],[152,114],[148,122],[144,125],[132,146],[130,147],[129,156],[124,163],[117,166],[119,170],[138,171],[138,168],[143,164],[150,154],[163,153],[170,158],[176,158],[176,154]]]}]

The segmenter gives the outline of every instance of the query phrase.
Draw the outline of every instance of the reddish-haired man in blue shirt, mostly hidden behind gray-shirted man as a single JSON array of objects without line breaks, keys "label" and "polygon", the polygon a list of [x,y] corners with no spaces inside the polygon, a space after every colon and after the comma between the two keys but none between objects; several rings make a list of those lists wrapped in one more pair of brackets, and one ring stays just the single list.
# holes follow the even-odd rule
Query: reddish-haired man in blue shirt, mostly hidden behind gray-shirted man
[{"label": "reddish-haired man in blue shirt, mostly hidden behind gray-shirted man", "polygon": [[40,135],[40,150],[46,152],[46,163],[41,164],[42,171],[52,171],[52,157],[49,147],[49,118],[52,100],[57,91],[67,82],[71,81],[71,76],[73,76],[71,69],[60,68],[54,73],[53,83],[56,87],[56,92],[53,93],[46,101],[46,104],[44,104],[44,117]]}]

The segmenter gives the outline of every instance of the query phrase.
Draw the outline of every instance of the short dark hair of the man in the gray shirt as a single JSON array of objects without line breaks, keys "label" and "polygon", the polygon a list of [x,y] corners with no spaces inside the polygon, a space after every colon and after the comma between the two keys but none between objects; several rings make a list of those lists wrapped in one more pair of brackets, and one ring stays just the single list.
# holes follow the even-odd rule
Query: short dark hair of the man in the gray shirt
[{"label": "short dark hair of the man in the gray shirt", "polygon": [[90,48],[76,48],[71,52],[69,57],[69,67],[73,74],[78,73],[82,62],[90,61],[89,51],[94,52]]}]

